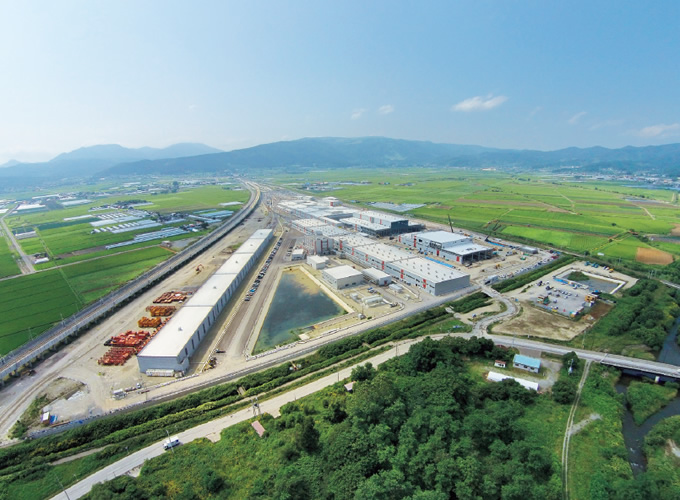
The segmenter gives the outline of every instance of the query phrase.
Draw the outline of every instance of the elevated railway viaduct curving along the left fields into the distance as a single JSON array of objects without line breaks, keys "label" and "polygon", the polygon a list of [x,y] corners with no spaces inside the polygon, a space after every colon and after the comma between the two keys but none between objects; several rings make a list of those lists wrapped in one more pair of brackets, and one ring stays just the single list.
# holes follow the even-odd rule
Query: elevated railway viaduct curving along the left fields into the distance
[{"label": "elevated railway viaduct curving along the left fields into the distance", "polygon": [[173,273],[177,268],[226,236],[253,212],[260,201],[261,193],[257,185],[246,183],[246,187],[251,192],[250,200],[235,217],[229,219],[197,243],[173,255],[133,281],[126,283],[97,302],[86,306],[73,316],[61,321],[59,324],[4,356],[0,360],[0,381],[23,366],[33,362],[43,352],[53,348],[68,337],[80,333],[82,330],[90,327],[92,323],[117,310],[121,304],[165,278],[168,274]]}]

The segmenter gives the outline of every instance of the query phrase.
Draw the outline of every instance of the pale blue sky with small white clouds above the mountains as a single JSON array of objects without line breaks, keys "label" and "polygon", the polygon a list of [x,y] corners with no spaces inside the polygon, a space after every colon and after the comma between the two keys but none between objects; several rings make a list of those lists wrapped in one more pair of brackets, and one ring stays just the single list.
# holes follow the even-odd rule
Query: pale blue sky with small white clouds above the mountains
[{"label": "pale blue sky with small white clouds above the mountains", "polygon": [[680,2],[0,0],[0,164],[95,144],[680,142]]}]

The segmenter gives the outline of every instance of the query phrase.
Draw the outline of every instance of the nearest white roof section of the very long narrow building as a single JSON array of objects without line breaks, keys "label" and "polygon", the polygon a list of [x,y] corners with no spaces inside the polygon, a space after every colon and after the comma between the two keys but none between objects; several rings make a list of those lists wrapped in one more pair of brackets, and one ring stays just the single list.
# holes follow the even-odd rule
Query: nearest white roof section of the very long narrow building
[{"label": "nearest white roof section of the very long narrow building", "polygon": [[151,339],[139,356],[170,357],[179,356],[191,336],[210,314],[210,306],[184,306],[177,311],[170,321]]}]

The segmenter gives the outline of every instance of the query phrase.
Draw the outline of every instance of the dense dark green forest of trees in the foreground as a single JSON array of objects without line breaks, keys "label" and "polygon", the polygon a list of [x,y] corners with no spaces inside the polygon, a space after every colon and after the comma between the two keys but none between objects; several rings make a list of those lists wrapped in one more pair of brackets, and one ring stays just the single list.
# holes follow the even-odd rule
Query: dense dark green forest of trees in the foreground
[{"label": "dense dark green forest of trees in the foreground", "polygon": [[[353,394],[338,385],[318,404],[303,400],[263,418],[268,432],[254,448],[251,429],[227,429],[210,461],[185,446],[90,498],[561,498],[555,457],[526,440],[522,419],[543,396],[511,380],[486,383],[463,362],[501,351],[486,339],[426,339],[380,370],[355,370]],[[244,485],[237,478],[250,468],[258,473]]]}]

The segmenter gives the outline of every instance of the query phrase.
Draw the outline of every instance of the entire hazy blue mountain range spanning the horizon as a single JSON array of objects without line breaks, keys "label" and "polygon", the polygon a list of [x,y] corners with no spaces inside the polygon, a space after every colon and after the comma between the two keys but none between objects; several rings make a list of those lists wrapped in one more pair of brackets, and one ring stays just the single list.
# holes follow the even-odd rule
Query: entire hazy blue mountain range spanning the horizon
[{"label": "entire hazy blue mountain range spanning the horizon", "polygon": [[164,149],[128,149],[114,144],[77,149],[45,163],[20,163],[0,168],[0,182],[27,178],[35,183],[40,179],[84,176],[101,178],[401,166],[569,169],[573,172],[616,170],[677,176],[680,175],[680,144],[536,151],[384,137],[320,137],[274,142],[228,152],[203,144],[176,144]]}]

